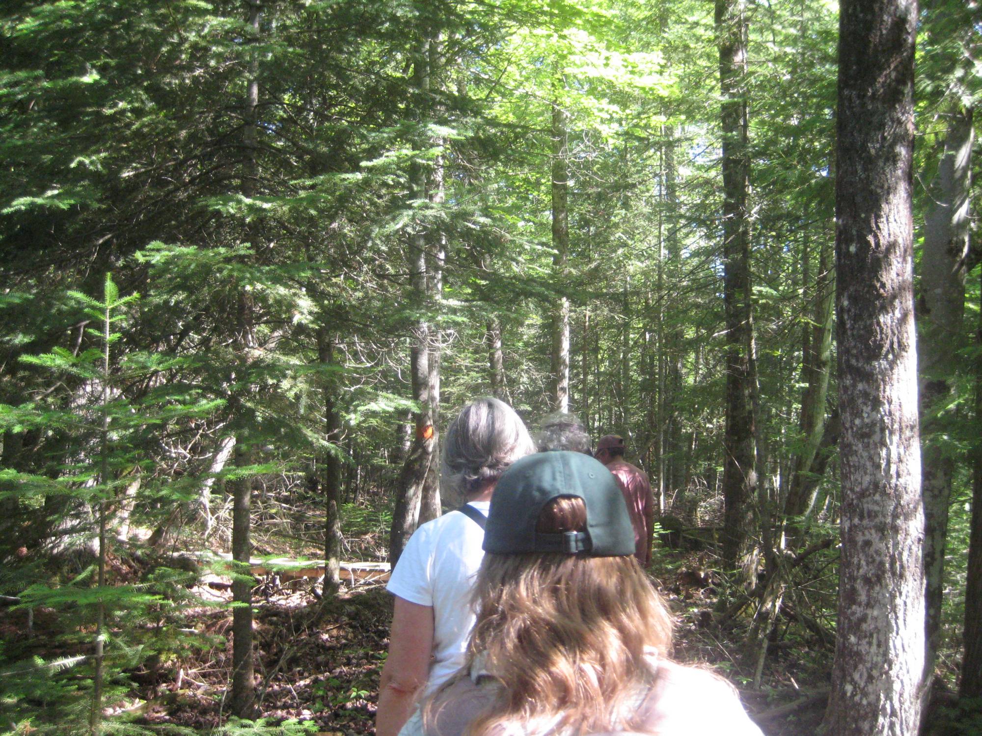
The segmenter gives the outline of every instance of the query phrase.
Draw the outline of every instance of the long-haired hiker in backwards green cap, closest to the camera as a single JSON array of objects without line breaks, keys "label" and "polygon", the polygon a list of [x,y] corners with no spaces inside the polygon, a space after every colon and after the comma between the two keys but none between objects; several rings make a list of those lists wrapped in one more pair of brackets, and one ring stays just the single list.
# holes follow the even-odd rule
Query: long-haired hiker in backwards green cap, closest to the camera
[{"label": "long-haired hiker in backwards green cap, closest to the camera", "polygon": [[400,736],[761,736],[731,685],[668,657],[671,616],[599,461],[518,460],[495,490],[484,551],[464,667]]}]

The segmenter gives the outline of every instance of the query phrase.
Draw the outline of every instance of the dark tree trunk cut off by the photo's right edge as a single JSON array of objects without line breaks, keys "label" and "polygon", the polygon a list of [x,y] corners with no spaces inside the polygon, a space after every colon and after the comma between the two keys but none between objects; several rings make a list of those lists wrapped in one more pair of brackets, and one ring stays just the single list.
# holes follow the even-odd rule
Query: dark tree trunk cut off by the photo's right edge
[{"label": "dark tree trunk cut off by the photo's right edge", "polygon": [[[975,344],[982,348],[982,311]],[[975,362],[975,420],[982,417],[982,360]],[[965,643],[958,695],[982,698],[982,443],[976,438],[972,457],[972,521],[968,540],[968,580],[965,583]]]}]

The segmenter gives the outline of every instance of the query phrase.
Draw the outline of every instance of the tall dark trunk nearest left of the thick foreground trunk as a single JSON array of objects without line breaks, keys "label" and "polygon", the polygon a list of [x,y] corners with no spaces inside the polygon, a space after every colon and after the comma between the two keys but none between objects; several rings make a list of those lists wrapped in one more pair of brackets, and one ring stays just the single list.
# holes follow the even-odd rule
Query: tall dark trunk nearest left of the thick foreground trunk
[{"label": "tall dark trunk nearest left of the thick foreground trunk", "polygon": [[756,578],[750,542],[757,490],[754,443],[753,315],[750,306],[750,235],[746,209],[746,36],[744,0],[716,0],[716,33],[723,95],[723,267],[727,326],[727,423],[724,436],[723,558],[739,568],[744,585]]}]

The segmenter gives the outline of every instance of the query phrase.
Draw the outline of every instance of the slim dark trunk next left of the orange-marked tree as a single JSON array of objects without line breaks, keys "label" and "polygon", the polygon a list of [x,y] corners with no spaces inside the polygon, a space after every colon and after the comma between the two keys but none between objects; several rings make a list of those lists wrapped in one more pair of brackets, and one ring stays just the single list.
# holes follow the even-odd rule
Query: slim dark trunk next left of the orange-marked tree
[{"label": "slim dark trunk next left of the orange-marked tree", "polygon": [[[334,365],[334,341],[324,327],[317,330],[317,359]],[[321,457],[324,478],[324,593],[341,586],[341,414],[337,382],[324,381],[324,439],[331,446]]]}]

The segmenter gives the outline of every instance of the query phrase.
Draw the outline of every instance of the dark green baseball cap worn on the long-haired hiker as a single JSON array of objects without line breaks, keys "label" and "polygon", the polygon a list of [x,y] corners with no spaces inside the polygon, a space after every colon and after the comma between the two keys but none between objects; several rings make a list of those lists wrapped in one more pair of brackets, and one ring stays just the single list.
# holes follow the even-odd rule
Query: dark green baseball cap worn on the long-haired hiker
[{"label": "dark green baseball cap worn on the long-haired hiker", "polygon": [[[545,505],[564,496],[583,499],[586,531],[536,532]],[[634,553],[634,529],[621,488],[603,463],[581,452],[539,452],[513,463],[495,486],[484,552],[627,556]]]}]

